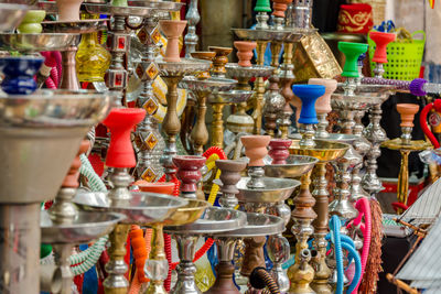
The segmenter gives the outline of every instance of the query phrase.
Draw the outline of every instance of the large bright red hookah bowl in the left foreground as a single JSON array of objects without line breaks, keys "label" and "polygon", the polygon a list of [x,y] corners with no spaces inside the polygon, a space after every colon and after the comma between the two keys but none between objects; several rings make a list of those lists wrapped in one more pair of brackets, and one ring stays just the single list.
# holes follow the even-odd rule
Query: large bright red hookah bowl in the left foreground
[{"label": "large bright red hookah bowl in the left foreground", "polygon": [[130,133],[144,117],[146,110],[141,108],[115,108],[103,121],[110,130],[110,145],[106,157],[107,166],[121,168],[136,166]]}]

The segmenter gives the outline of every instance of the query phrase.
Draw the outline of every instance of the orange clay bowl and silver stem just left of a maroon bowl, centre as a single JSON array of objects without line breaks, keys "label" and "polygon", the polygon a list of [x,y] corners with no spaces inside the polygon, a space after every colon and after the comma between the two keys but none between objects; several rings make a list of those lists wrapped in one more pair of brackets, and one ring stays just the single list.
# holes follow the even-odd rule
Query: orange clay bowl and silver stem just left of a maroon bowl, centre
[{"label": "orange clay bowl and silver stem just left of a maroon bowl, centre", "polygon": [[267,145],[271,140],[270,135],[243,135],[240,141],[245,148],[245,155],[249,159],[247,183],[248,188],[265,188],[263,159],[268,154]]}]

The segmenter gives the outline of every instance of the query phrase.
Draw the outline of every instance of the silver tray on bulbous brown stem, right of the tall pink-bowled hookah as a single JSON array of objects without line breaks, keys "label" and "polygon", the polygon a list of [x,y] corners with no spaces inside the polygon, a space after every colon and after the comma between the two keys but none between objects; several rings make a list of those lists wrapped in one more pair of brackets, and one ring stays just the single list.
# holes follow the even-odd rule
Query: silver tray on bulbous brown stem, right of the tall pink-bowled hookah
[{"label": "silver tray on bulbous brown stem, right of the tall pink-bowled hookah", "polygon": [[180,88],[192,90],[197,99],[197,118],[192,129],[191,139],[194,145],[194,153],[202,155],[204,145],[208,142],[208,130],[205,122],[206,100],[212,92],[228,91],[236,86],[235,79],[226,78],[208,78],[198,79],[196,77],[184,77],[180,84]]}]

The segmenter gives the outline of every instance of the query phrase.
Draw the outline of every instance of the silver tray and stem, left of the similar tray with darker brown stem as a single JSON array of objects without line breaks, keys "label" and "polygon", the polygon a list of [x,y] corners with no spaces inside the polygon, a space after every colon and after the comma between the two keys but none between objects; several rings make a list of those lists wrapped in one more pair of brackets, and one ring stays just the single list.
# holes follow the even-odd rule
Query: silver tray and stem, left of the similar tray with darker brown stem
[{"label": "silver tray and stem, left of the similar tray with darker brown stem", "polygon": [[176,240],[181,260],[178,266],[178,282],[170,293],[202,293],[194,281],[196,266],[193,263],[198,238],[239,229],[246,225],[246,221],[247,216],[241,211],[208,207],[203,216],[193,224],[165,227],[165,231]]}]

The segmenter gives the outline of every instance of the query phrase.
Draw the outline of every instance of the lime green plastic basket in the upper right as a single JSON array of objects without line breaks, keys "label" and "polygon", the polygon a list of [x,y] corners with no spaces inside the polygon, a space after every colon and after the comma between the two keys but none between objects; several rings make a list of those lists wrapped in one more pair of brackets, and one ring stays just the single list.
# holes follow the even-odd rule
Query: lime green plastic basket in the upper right
[{"label": "lime green plastic basket in the upper right", "polygon": [[[411,43],[391,42],[387,45],[387,61],[384,65],[385,78],[412,80],[420,75],[422,55],[424,53],[426,33],[424,31],[416,31],[411,35],[421,34],[422,40],[413,39]],[[372,58],[375,52],[375,42],[367,39],[369,44],[370,69],[375,68]],[[374,76],[374,73],[373,73]]]}]

